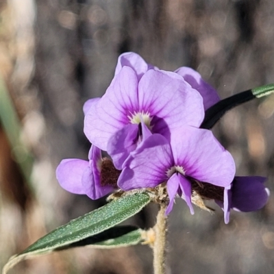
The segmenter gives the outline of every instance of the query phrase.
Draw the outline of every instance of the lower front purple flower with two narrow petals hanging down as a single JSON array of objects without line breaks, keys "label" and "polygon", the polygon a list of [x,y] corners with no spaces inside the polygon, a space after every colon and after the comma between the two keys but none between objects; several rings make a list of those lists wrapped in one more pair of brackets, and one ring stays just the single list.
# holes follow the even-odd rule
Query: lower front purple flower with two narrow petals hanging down
[{"label": "lower front purple flower with two narrow petals hanging down", "polygon": [[130,153],[123,165],[118,186],[123,190],[153,188],[167,182],[170,203],[178,194],[193,214],[191,180],[227,187],[235,175],[232,155],[206,129],[184,126],[174,129],[171,140],[153,134]]}]

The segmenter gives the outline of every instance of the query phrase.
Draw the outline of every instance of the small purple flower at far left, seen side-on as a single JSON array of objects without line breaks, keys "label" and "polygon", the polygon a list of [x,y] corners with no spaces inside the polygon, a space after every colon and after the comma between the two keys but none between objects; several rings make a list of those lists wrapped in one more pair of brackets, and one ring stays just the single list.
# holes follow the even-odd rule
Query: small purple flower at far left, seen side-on
[{"label": "small purple flower at far left, seen side-on", "polygon": [[90,148],[88,159],[62,160],[56,169],[56,177],[65,190],[99,199],[114,190],[114,184],[102,178],[103,166],[105,163],[110,165],[110,160],[102,159],[101,150],[94,145]]}]

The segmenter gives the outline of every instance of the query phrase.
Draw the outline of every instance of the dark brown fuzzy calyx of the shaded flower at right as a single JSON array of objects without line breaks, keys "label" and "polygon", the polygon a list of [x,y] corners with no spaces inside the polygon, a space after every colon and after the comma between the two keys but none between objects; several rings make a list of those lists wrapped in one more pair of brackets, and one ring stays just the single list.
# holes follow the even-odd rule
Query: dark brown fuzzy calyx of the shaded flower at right
[{"label": "dark brown fuzzy calyx of the shaded flower at right", "polygon": [[199,182],[195,179],[190,179],[190,182],[192,190],[195,190],[201,198],[223,201],[223,187]]}]

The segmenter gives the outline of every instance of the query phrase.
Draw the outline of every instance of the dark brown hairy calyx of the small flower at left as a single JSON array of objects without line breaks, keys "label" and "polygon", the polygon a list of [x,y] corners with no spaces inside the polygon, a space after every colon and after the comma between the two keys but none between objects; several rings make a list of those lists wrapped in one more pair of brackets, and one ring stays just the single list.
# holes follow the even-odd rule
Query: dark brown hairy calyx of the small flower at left
[{"label": "dark brown hairy calyx of the small flower at left", "polygon": [[117,187],[117,180],[121,171],[115,169],[112,160],[103,158],[101,163],[100,184],[101,186]]}]

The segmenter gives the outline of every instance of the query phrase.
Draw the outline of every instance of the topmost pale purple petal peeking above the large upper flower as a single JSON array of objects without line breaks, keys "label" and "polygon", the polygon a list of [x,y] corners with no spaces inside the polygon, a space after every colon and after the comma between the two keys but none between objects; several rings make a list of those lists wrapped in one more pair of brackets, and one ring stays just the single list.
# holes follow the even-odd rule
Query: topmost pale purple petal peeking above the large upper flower
[{"label": "topmost pale purple petal peeking above the large upper flower", "polygon": [[132,68],[137,75],[138,81],[149,69],[153,69],[153,66],[147,64],[147,62],[145,62],[140,55],[134,52],[123,53],[119,56],[115,69],[115,75],[121,71],[123,66],[129,66]]}]

